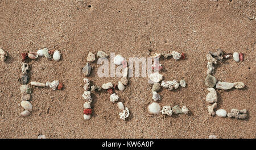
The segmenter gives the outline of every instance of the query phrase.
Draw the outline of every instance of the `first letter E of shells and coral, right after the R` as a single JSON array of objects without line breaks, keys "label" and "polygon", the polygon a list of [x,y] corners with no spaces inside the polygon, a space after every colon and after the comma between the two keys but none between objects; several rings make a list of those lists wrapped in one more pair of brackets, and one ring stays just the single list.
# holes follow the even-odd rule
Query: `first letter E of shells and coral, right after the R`
[{"label": "first letter E of shells and coral, right after the R", "polygon": [[[173,51],[171,53],[171,55],[174,57],[175,60],[178,60],[181,58],[181,54],[176,52],[176,51]],[[168,56],[171,56],[169,54],[164,54],[164,57],[168,57]],[[184,53],[183,53],[184,55]],[[152,69],[156,70],[156,71],[160,71],[162,69],[162,65],[159,64],[159,58],[161,57],[162,55],[160,53],[155,53],[154,56],[153,56],[153,59],[154,59],[154,65],[152,65]],[[161,98],[160,98],[160,95],[157,93],[157,91],[160,90],[161,86],[162,87],[166,87],[168,90],[173,90],[173,89],[177,89],[179,87],[179,85],[181,85],[182,87],[185,87],[186,86],[186,82],[185,80],[180,80],[177,81],[177,80],[173,80],[173,81],[162,81],[163,80],[163,75],[160,74],[159,72],[155,72],[155,73],[152,73],[148,76],[148,78],[150,79],[151,82],[153,82],[153,86],[152,86],[152,99],[155,101],[155,102],[152,102],[150,105],[148,105],[148,113],[152,114],[152,115],[155,115],[155,114],[159,114],[159,113],[162,113],[164,115],[169,115],[171,116],[172,113],[174,114],[188,114],[188,109],[186,106],[183,106],[182,109],[176,105],[174,107],[171,107],[171,106],[163,106],[162,110],[161,110],[161,107],[158,103],[156,103],[156,101],[159,101]],[[159,83],[160,81],[161,84]]]}]

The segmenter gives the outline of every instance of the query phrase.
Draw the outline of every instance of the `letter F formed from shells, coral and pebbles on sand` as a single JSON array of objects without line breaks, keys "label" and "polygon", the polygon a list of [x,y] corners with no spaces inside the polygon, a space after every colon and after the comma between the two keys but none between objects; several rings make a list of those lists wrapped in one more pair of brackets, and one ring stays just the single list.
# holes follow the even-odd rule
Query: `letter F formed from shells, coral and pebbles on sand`
[{"label": "letter F formed from shells, coral and pebbles on sand", "polygon": [[[36,53],[30,52],[30,53],[28,53],[27,56],[30,59],[37,59],[38,56],[45,56],[47,59],[51,59],[51,57],[52,57],[51,54],[49,54],[49,51],[48,51],[47,48],[40,49]],[[53,53],[53,59],[55,61],[60,60],[60,53],[59,53],[59,51],[56,50]],[[24,109],[24,111],[22,111],[22,113],[20,113],[20,115],[23,116],[23,117],[29,116],[31,114],[31,111],[32,111],[32,105],[29,102],[30,99],[31,99],[31,95],[30,94],[32,93],[32,87],[27,85],[28,70],[29,70],[29,65],[27,63],[23,62],[22,63],[22,67],[21,67],[21,75],[20,75],[20,81],[22,83],[22,85],[20,86],[20,93],[22,94],[22,98],[21,98],[22,101],[20,103],[20,106],[22,106],[23,109]],[[55,80],[53,82],[47,81],[46,84],[32,81],[32,82],[30,82],[30,85],[31,86],[40,86],[40,87],[49,86],[53,90],[56,90],[57,88],[58,89],[62,89],[62,87],[63,87],[62,83],[59,86],[59,81],[58,80]]]}]

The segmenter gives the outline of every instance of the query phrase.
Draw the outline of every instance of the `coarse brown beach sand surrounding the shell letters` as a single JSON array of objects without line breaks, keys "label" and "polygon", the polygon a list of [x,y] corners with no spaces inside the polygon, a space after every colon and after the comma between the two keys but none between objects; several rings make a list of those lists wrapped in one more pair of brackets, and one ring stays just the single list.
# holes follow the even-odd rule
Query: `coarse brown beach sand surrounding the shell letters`
[{"label": "coarse brown beach sand surrounding the shell letters", "polygon": [[[256,138],[255,1],[13,1],[0,0],[0,48],[9,53],[0,61],[0,138]],[[60,61],[26,60],[30,81],[59,80],[63,90],[33,87],[32,114],[20,116],[21,53],[44,47],[57,49]],[[225,60],[213,76],[219,81],[242,81],[241,90],[217,90],[218,107],[246,109],[245,120],[208,115],[204,80],[206,55],[221,48],[242,52],[244,61]],[[123,57],[150,57],[154,52],[184,52],[185,60],[160,59],[164,80],[181,80],[187,87],[161,89],[160,106],[187,106],[189,115],[155,115],[148,78],[130,78],[116,91],[131,111],[119,119],[106,91],[92,95],[93,114],[84,120],[84,75],[88,52],[114,52]],[[89,79],[101,86],[119,78],[100,78],[93,63]]]}]

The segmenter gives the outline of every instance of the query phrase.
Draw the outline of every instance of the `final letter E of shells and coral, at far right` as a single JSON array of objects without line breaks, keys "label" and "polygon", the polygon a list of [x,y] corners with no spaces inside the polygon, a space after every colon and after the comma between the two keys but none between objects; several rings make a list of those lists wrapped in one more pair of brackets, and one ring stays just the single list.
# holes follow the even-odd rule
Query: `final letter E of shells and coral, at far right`
[{"label": "final letter E of shells and coral, at far right", "polygon": [[[219,109],[216,112],[214,111],[214,109],[217,108],[217,91],[214,89],[214,87],[221,90],[229,90],[233,87],[236,89],[242,89],[245,87],[243,82],[217,82],[216,78],[211,75],[214,70],[213,65],[217,64],[218,60],[222,60],[223,58],[229,59],[230,57],[232,57],[232,55],[223,55],[221,49],[218,49],[217,52],[209,52],[207,54],[207,77],[205,78],[204,82],[205,85],[208,86],[207,90],[209,93],[207,94],[205,101],[207,103],[212,103],[212,105],[208,106],[208,114],[211,116],[217,115],[220,117],[226,117],[228,115],[229,118],[245,119],[247,115],[246,110],[232,109],[231,113],[227,113],[224,109]],[[233,58],[236,62],[243,61],[242,53],[234,52]]]}]

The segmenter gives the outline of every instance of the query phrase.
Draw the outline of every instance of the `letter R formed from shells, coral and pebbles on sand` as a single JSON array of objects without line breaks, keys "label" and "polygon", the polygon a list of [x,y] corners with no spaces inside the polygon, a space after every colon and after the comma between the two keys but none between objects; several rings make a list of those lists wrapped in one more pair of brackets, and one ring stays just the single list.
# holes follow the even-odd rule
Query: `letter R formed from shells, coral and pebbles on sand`
[{"label": "letter R formed from shells, coral and pebbles on sand", "polygon": [[[109,55],[106,54],[105,52],[102,51],[98,51],[97,52],[97,56],[100,58],[107,58]],[[82,68],[82,73],[85,76],[89,76],[90,75],[90,70],[92,69],[92,66],[89,64],[89,62],[94,62],[96,60],[95,55],[92,52],[89,52],[88,57],[87,57],[87,63],[84,66],[84,68]],[[121,81],[118,81],[118,90],[123,91],[125,90],[125,85],[128,84],[129,80],[128,80],[128,68],[127,68],[127,62],[125,60],[125,58],[123,58],[121,55],[116,55],[114,57],[114,64],[115,65],[122,65],[122,78]],[[86,100],[86,102],[84,103],[84,119],[88,120],[90,119],[90,113],[92,113],[92,109],[90,108],[90,103],[92,102],[92,98],[90,97],[90,91],[89,89],[91,89],[91,91],[100,91],[101,89],[104,90],[108,90],[108,92],[111,94],[110,95],[110,101],[115,103],[118,101],[119,97],[116,93],[113,93],[113,89],[115,89],[115,86],[112,84],[112,82],[107,82],[105,84],[102,84],[102,86],[90,86],[90,82],[89,79],[84,78],[84,94],[82,94],[82,97]],[[130,111],[127,107],[125,107],[123,105],[122,102],[117,102],[117,106],[120,110],[122,110],[121,113],[119,113],[120,119],[126,120],[126,118],[129,117],[130,115]]]}]

